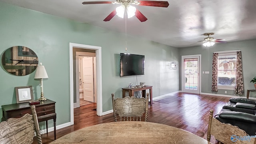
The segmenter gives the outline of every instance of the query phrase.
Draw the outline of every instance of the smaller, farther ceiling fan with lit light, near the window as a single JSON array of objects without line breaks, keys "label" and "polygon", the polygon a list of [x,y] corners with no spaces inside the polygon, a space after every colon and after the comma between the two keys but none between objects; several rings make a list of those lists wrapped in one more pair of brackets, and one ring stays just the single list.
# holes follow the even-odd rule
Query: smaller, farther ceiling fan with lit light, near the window
[{"label": "smaller, farther ceiling fan with lit light, near the window", "polygon": [[203,43],[204,46],[210,47],[210,46],[213,46],[215,44],[215,42],[226,43],[226,41],[224,41],[225,39],[214,39],[213,37],[210,37],[211,35],[214,35],[214,32],[206,32],[203,35],[204,36],[208,36],[208,37],[206,37],[206,38],[204,38],[204,40],[200,40],[200,41],[198,41],[198,42],[196,42],[194,44],[204,42]]}]

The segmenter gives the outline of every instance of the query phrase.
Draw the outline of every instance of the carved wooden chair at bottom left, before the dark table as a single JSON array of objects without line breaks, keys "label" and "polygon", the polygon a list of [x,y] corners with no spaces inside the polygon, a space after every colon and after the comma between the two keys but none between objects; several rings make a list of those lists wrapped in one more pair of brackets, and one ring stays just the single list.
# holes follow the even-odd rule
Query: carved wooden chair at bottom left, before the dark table
[{"label": "carved wooden chair at bottom left, before the dark table", "polygon": [[35,105],[30,108],[32,115],[25,114],[0,123],[0,144],[32,144],[35,133],[38,144],[42,144]]}]

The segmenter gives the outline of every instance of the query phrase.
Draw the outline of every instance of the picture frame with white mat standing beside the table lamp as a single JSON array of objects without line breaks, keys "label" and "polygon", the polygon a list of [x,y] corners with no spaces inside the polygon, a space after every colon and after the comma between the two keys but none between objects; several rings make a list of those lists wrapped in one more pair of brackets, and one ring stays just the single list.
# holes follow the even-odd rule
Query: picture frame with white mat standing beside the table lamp
[{"label": "picture frame with white mat standing beside the table lamp", "polygon": [[16,103],[24,103],[34,100],[32,86],[15,87]]}]

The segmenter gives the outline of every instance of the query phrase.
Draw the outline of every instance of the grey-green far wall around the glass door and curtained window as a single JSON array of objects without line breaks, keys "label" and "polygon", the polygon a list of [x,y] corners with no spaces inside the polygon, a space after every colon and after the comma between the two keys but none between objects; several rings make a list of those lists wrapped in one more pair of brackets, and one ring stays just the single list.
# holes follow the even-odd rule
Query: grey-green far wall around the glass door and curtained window
[{"label": "grey-green far wall around the glass door and curtained window", "polygon": [[[212,92],[212,54],[213,52],[224,50],[241,50],[242,62],[243,62],[243,75],[244,75],[244,95],[246,96],[247,89],[255,89],[254,85],[250,83],[250,80],[256,76],[256,40],[246,40],[240,42],[228,42],[225,44],[215,44],[206,50],[204,46],[181,48],[180,49],[180,61],[182,55],[202,54],[202,71],[210,71],[210,74],[202,74],[202,92],[213,94],[225,94],[225,90],[218,90],[218,92]],[[181,68],[180,68],[181,71]],[[180,73],[181,74],[181,73]],[[181,90],[181,78],[180,78],[180,90]],[[234,95],[234,90],[226,90],[226,95]],[[256,97],[256,94],[251,92],[250,96]],[[238,96],[238,95],[237,95]]]}]

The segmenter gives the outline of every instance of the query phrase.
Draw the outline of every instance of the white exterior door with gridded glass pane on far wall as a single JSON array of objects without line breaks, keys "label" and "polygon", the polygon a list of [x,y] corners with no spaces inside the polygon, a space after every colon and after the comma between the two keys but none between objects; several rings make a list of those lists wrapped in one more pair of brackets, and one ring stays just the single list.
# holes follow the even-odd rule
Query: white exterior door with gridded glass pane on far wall
[{"label": "white exterior door with gridded glass pane on far wall", "polygon": [[185,89],[198,90],[198,59],[184,59]]}]

